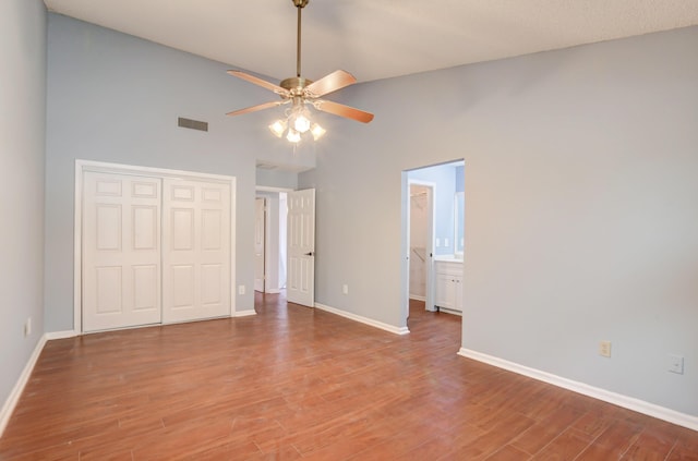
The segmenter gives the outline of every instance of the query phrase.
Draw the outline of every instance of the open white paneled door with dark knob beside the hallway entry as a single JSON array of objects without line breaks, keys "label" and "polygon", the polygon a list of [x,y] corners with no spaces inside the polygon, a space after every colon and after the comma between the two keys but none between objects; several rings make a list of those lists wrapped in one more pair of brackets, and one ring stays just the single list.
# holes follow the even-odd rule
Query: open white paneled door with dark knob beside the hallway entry
[{"label": "open white paneled door with dark knob beside the hallway entry", "polygon": [[315,190],[288,193],[286,295],[291,303],[315,305]]}]

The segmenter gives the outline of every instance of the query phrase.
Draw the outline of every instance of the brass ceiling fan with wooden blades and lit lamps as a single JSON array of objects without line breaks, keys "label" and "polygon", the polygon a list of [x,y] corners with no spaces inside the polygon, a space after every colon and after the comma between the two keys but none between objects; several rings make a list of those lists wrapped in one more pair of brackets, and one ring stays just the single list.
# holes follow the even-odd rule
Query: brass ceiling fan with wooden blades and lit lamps
[{"label": "brass ceiling fan with wooden blades and lit lamps", "polygon": [[301,76],[301,10],[308,5],[309,0],[291,1],[298,9],[296,76],[286,78],[278,85],[275,85],[245,72],[228,71],[230,75],[276,93],[281,97],[281,100],[233,110],[232,112],[228,112],[227,116],[240,116],[243,113],[256,112],[257,110],[291,104],[291,108],[287,110],[286,120],[277,120],[275,123],[269,125],[269,130],[272,130],[272,132],[278,137],[281,137],[284,133],[286,133],[286,138],[292,143],[298,143],[301,139],[301,134],[308,131],[313,134],[315,139],[325,133],[325,130],[317,123],[311,125],[310,111],[305,108],[306,105],[313,106],[315,109],[322,110],[323,112],[334,113],[335,116],[356,120],[362,123],[369,123],[373,120],[373,113],[326,99],[321,99],[329,93],[357,83],[354,76],[349,72],[342,70],[335,71],[315,82]]}]

